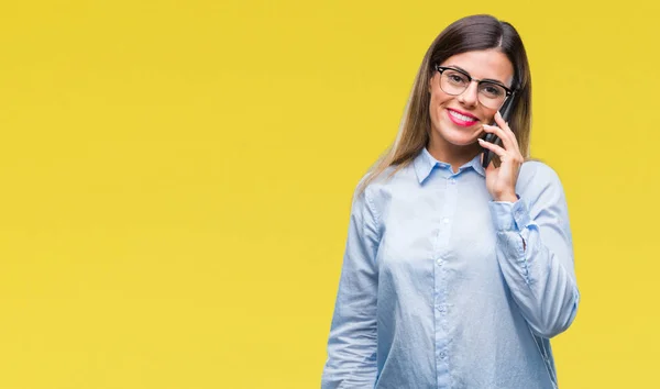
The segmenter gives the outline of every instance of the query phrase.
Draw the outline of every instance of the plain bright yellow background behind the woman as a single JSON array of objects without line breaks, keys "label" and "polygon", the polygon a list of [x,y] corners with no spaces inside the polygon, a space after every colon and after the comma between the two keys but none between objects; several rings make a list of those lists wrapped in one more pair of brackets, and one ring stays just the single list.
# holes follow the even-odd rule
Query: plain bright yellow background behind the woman
[{"label": "plain bright yellow background behind the woman", "polygon": [[350,200],[436,35],[522,35],[562,389],[658,388],[656,1],[3,1],[0,388],[317,388]]}]

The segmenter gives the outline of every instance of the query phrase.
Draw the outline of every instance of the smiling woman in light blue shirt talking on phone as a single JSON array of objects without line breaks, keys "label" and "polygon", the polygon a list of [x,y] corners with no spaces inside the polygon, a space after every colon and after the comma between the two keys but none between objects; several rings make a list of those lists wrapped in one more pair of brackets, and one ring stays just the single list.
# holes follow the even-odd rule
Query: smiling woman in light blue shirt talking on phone
[{"label": "smiling woman in light blue shirt talking on phone", "polygon": [[322,388],[557,387],[549,340],[580,293],[561,182],[527,158],[530,93],[510,24],[473,15],[433,41],[353,198]]}]

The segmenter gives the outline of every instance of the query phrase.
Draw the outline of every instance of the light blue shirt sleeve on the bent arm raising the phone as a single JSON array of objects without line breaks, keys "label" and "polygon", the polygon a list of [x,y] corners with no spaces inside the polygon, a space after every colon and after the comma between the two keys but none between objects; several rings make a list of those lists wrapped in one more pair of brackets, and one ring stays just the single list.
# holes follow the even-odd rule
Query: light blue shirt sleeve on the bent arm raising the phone
[{"label": "light blue shirt sleeve on the bent arm raising the phone", "polygon": [[491,201],[490,208],[497,262],[522,316],[539,336],[562,333],[575,319],[580,292],[559,177],[543,165],[518,201]]}]

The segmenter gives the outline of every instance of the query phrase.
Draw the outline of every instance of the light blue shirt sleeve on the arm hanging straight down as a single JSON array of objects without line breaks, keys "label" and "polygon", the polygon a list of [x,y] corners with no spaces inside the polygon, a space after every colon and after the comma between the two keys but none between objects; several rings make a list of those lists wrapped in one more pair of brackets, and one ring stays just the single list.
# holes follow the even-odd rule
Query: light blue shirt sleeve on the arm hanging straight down
[{"label": "light blue shirt sleeve on the arm hanging straight down", "polygon": [[369,190],[355,193],[321,388],[373,388],[376,379],[378,237]]}]

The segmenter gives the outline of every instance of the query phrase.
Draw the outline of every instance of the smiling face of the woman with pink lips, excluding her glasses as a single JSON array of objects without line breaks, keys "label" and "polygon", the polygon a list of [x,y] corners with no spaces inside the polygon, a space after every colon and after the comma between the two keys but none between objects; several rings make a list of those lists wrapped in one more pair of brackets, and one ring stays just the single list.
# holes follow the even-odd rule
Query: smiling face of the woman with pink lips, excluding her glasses
[{"label": "smiling face of the woman with pink lips, excluding her glasses", "polygon": [[[510,60],[496,49],[457,54],[440,66],[459,68],[475,79],[495,80],[508,88],[514,78]],[[440,78],[441,74],[435,71],[429,85],[429,148],[438,151],[443,159],[452,159],[454,156],[451,154],[457,153],[476,154],[480,149],[476,138],[483,133],[482,124],[491,124],[497,109],[480,103],[476,82],[471,82],[461,95],[452,96],[440,88]]]}]

